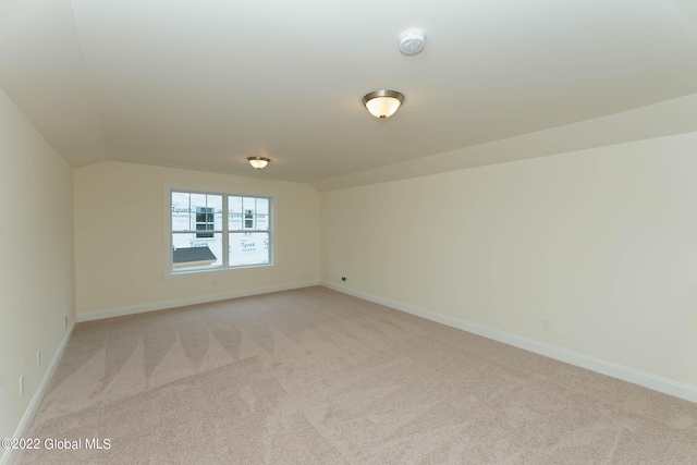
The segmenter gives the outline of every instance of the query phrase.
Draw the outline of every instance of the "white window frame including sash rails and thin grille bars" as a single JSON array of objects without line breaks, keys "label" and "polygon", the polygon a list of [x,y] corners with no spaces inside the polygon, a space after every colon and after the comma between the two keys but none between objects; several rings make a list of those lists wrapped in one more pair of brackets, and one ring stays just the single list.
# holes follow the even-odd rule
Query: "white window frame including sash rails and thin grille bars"
[{"label": "white window frame including sash rails and thin grille bars", "polygon": [[[171,185],[166,185],[164,188],[166,192],[166,217],[167,217],[167,228],[166,228],[166,235],[167,235],[167,241],[166,241],[166,257],[164,257],[164,264],[166,264],[166,269],[164,269],[164,277],[166,278],[174,278],[174,277],[182,277],[182,276],[191,276],[191,274],[198,274],[198,273],[220,273],[220,272],[234,272],[234,271],[240,271],[240,270],[245,270],[245,269],[255,269],[255,268],[266,268],[266,267],[272,267],[274,266],[274,260],[273,260],[273,256],[274,256],[274,220],[273,220],[273,211],[274,211],[274,203],[276,203],[276,198],[273,195],[270,194],[249,194],[249,193],[245,193],[245,194],[239,194],[239,193],[232,193],[232,192],[225,192],[225,191],[210,191],[210,189],[201,189],[201,188],[192,188],[192,187],[186,187],[186,186],[171,186]],[[173,224],[172,224],[172,210],[173,210],[173,201],[172,201],[172,195],[174,193],[181,193],[181,194],[188,194],[188,195],[213,195],[213,196],[220,196],[221,200],[222,200],[222,221],[221,221],[221,228],[220,230],[216,229],[213,225],[213,230],[210,230],[210,233],[219,233],[221,234],[221,248],[223,250],[223,253],[221,254],[222,257],[219,258],[220,260],[220,266],[216,266],[216,267],[211,267],[211,268],[203,268],[203,269],[181,269],[180,267],[175,267],[174,266],[174,258],[173,258],[173,254],[172,250],[174,248],[174,234],[185,234],[185,233],[189,233],[189,234],[196,234],[197,240],[198,238],[198,234],[203,233],[203,230],[173,230]],[[243,229],[242,230],[237,230],[237,229],[232,229],[230,228],[230,211],[229,211],[229,200],[230,197],[241,197],[242,199],[244,198],[254,198],[256,199],[265,199],[268,201],[268,212],[267,215],[267,229],[266,230],[257,230],[255,229],[246,229],[244,228],[245,225],[245,211],[243,209],[243,211],[240,212],[240,215],[242,215],[242,224],[243,224]],[[194,227],[196,228],[198,225],[198,221],[196,219],[196,215],[197,212],[191,212],[194,216]],[[213,215],[215,211],[213,211]],[[257,216],[258,215],[265,215],[265,213],[258,213],[255,212],[253,213],[254,216],[254,225],[257,225]],[[203,223],[201,223],[203,224]],[[213,224],[215,224],[215,217],[213,217]],[[189,228],[191,228],[191,220],[189,220]],[[252,265],[230,265],[230,236],[233,233],[241,233],[241,232],[248,232],[248,233],[265,233],[267,234],[268,237],[268,261],[264,262],[264,264],[252,264]],[[208,233],[208,230],[206,230],[206,233]],[[206,237],[206,238],[200,238],[203,241],[211,241],[215,237]]]}]

